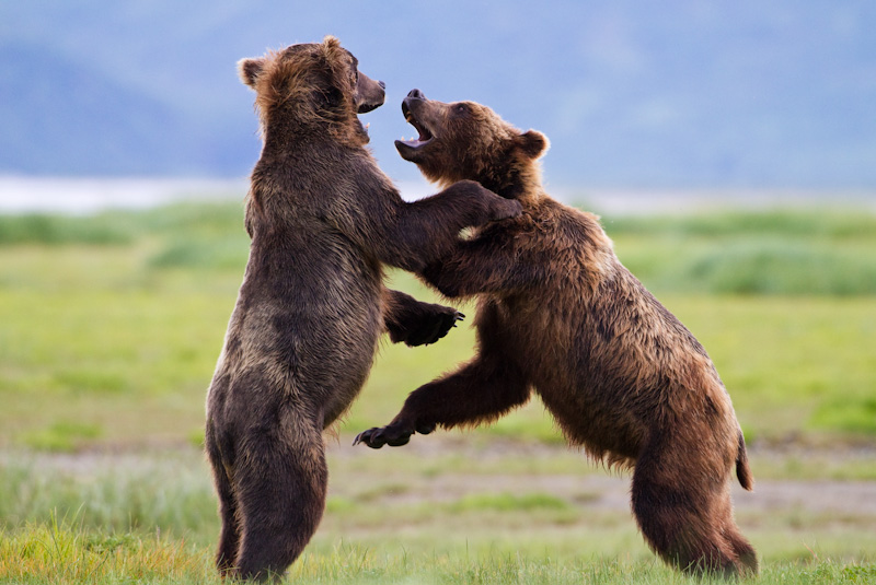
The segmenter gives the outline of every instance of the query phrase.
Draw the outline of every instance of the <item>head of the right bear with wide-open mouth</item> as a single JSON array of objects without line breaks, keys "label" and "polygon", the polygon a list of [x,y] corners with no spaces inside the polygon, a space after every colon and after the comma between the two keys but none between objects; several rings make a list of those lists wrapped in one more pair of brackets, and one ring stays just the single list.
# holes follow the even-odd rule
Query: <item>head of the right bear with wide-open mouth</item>
[{"label": "head of the right bear with wide-open mouth", "polygon": [[538,159],[548,149],[541,132],[521,132],[481,104],[446,104],[419,90],[407,94],[402,113],[419,137],[396,140],[395,148],[429,180],[449,186],[471,179],[508,199],[537,197]]}]

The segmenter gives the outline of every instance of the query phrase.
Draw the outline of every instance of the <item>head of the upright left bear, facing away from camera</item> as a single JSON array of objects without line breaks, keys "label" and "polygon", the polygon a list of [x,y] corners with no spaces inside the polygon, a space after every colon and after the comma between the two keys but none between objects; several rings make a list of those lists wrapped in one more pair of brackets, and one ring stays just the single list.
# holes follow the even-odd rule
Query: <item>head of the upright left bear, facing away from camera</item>
[{"label": "head of the upright left bear, facing away from camera", "polygon": [[357,114],[382,105],[385,85],[360,73],[358,60],[337,38],[241,59],[238,70],[243,83],[255,90],[266,134],[318,129],[353,145],[368,143]]}]

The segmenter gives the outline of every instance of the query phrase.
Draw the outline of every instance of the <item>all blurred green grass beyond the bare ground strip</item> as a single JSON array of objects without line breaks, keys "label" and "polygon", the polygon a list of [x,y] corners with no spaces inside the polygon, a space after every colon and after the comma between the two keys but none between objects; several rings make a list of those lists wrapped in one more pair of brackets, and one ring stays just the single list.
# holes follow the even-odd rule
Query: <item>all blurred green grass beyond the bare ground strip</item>
[{"label": "all blurred green grass beyond the bare ground strip", "polygon": [[[246,259],[241,213],[240,204],[205,204],[47,217],[36,223],[78,234],[65,236],[77,243],[56,245],[45,230],[24,230],[28,243],[0,237],[0,447],[70,451],[197,437]],[[1,220],[4,233],[16,232],[10,227],[16,221],[34,223],[33,217]],[[749,438],[876,436],[876,295],[846,294],[857,285],[842,284],[851,273],[868,278],[855,262],[876,262],[872,215],[771,212],[604,223],[621,259],[704,343]],[[125,237],[95,244],[92,235],[102,233]],[[760,249],[765,239],[775,246]],[[798,261],[776,259],[784,253],[761,261],[770,250],[798,248],[822,256],[807,279],[800,274],[808,253]],[[846,266],[831,255],[855,259]],[[788,274],[779,270],[795,262],[800,266]],[[752,273],[763,276],[751,280]],[[407,274],[393,279],[434,299]],[[727,279],[735,279],[727,289],[748,294],[708,291],[708,282]],[[793,283],[802,289],[754,294]],[[803,294],[812,286],[819,294]],[[473,307],[462,308],[471,321]],[[428,348],[387,344],[343,431],[388,421],[410,390],[469,358],[472,344],[469,327]],[[486,432],[562,442],[538,400]]]}]

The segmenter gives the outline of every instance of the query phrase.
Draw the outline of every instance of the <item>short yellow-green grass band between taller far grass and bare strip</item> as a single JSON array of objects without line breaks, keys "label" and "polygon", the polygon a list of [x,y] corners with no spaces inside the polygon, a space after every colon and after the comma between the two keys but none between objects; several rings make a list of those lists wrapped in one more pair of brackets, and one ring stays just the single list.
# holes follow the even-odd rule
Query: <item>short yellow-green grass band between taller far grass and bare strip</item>
[{"label": "short yellow-green grass band between taller far grass and bare strip", "polygon": [[[201,288],[0,289],[0,445],[33,445],[34,436],[71,424],[100,430],[71,437],[71,447],[188,441],[203,426],[204,393],[234,300],[221,280],[214,291]],[[876,435],[869,299],[661,301],[707,348],[750,438]],[[429,348],[387,344],[345,432],[387,422],[408,391],[465,360],[472,344],[468,327]],[[561,441],[538,399],[488,432]]]}]

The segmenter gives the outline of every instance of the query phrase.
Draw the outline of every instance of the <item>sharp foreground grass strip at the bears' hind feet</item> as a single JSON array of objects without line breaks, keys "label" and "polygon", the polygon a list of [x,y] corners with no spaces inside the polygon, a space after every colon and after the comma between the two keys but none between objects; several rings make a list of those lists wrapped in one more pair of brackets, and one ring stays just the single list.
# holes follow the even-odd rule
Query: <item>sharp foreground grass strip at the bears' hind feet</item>
[{"label": "sharp foreground grass strip at the bears' hind feet", "polygon": [[[0,540],[0,582],[76,584],[222,583],[209,568],[209,551],[185,541],[139,535],[100,534],[66,522],[28,527]],[[14,562],[13,562],[14,560]],[[584,558],[562,562],[549,554],[505,553],[476,558],[464,553],[412,557],[380,554],[341,545],[325,553],[306,552],[287,576],[290,583],[333,584],[609,584],[676,585],[713,583],[671,572],[654,562]],[[872,563],[810,560],[763,570],[758,583],[876,583]],[[722,582],[716,582],[722,583]]]}]

